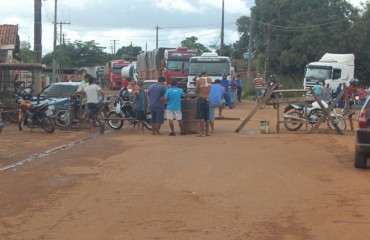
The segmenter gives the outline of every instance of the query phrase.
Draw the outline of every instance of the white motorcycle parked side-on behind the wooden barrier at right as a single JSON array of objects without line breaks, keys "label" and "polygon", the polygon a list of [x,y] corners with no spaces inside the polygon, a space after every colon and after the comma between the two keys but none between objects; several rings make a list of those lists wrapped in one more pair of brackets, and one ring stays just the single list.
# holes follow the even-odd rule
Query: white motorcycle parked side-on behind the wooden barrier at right
[{"label": "white motorcycle parked side-on behind the wooden barrier at right", "polygon": [[[321,103],[325,108],[328,108],[328,104],[325,101],[321,101]],[[308,123],[311,124],[311,126],[314,126],[324,114],[324,110],[320,107],[318,102],[313,102],[312,105],[307,105],[306,113],[304,105],[289,104],[284,109],[284,126],[289,131],[297,131],[303,126],[305,116],[307,116]],[[334,120],[340,130],[345,130],[347,128],[344,118],[337,114],[334,109],[330,112],[330,117]],[[329,121],[326,118],[324,121],[326,121],[330,129],[335,129],[332,121]]]}]

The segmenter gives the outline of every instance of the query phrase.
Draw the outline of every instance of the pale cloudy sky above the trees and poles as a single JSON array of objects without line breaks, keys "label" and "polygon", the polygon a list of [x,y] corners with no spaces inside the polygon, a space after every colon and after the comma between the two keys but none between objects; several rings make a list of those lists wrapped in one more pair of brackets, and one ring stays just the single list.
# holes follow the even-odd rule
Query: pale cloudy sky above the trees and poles
[{"label": "pale cloudy sky above the trees and poles", "polygon": [[[361,1],[348,0],[355,6]],[[196,36],[206,47],[220,45],[222,0],[57,0],[57,23],[66,41],[94,40],[112,52],[122,46],[177,47],[186,37]],[[224,42],[239,37],[236,20],[249,16],[254,0],[224,0]],[[55,0],[42,0],[43,54],[53,48]],[[33,0],[2,0],[0,24],[18,24],[21,41],[33,49]],[[60,24],[58,24],[58,41]],[[59,43],[58,43],[59,44]]]}]

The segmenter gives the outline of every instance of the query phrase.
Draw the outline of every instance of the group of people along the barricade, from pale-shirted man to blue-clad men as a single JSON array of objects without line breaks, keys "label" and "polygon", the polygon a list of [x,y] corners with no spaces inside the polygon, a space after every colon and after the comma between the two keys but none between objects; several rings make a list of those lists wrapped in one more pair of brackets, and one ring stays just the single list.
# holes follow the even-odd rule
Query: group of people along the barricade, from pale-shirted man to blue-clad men
[{"label": "group of people along the barricade, from pale-shirted man to blue-clad men", "polygon": [[[136,120],[138,130],[144,132],[144,121],[146,121],[146,112],[150,111],[152,115],[152,135],[159,135],[161,125],[164,119],[169,120],[169,136],[176,136],[174,120],[178,122],[180,135],[186,134],[183,129],[181,99],[186,99],[185,92],[177,86],[177,81],[171,82],[168,88],[165,84],[165,78],[159,77],[158,82],[153,84],[146,92],[143,88],[143,81],[131,81],[122,88],[123,92],[132,97],[133,105],[136,111]],[[232,77],[222,75],[222,79],[217,79],[214,83],[207,76],[207,71],[202,71],[196,78],[196,119],[199,121],[199,137],[210,136],[214,132],[215,110],[218,108],[219,117],[222,118],[222,110],[227,106],[232,109],[235,102],[241,102],[242,80],[240,75]],[[128,88],[131,91],[128,91]],[[94,121],[99,109],[98,93],[104,98],[104,92],[96,84],[96,80],[89,74],[86,74],[81,81],[78,92],[86,94],[85,110],[88,114],[90,129],[92,131]],[[124,93],[120,94],[123,97]]]}]

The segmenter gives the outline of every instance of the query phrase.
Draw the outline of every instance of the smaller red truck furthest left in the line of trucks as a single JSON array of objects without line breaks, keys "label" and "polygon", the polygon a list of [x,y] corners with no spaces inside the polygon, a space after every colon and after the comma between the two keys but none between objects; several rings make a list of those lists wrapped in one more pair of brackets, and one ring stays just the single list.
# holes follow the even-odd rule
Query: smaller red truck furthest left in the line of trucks
[{"label": "smaller red truck furthest left in the line of trucks", "polygon": [[122,76],[121,71],[123,67],[130,64],[130,61],[125,60],[112,60],[105,64],[104,80],[110,90],[121,89]]}]

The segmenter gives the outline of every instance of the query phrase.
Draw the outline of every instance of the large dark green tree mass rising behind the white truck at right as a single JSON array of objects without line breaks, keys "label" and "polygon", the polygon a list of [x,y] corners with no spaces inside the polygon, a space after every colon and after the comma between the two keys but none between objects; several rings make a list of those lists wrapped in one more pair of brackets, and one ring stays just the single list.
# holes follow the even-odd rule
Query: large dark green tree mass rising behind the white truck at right
[{"label": "large dark green tree mass rising behind the white truck at right", "polygon": [[[345,0],[256,0],[252,8],[253,51],[270,72],[302,75],[305,65],[326,52],[352,52],[348,29],[358,15]],[[246,47],[248,19],[237,21],[241,48]],[[242,39],[243,38],[243,39]]]}]

